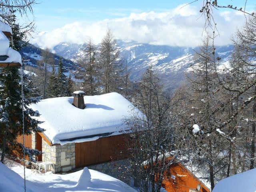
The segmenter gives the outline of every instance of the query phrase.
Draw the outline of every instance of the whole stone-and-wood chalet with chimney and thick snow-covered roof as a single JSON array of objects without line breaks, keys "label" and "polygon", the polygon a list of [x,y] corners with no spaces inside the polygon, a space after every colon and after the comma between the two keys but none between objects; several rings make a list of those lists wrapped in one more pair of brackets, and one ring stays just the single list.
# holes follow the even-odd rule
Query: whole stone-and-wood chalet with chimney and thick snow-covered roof
[{"label": "whole stone-and-wood chalet with chimney and thick snow-covered roof", "polygon": [[45,99],[30,107],[40,114],[39,126],[45,129],[25,139],[26,147],[43,152],[38,161],[53,162],[56,172],[88,166],[112,176],[118,173],[113,160],[125,157],[124,118],[134,108],[126,98],[77,91],[74,97]]}]

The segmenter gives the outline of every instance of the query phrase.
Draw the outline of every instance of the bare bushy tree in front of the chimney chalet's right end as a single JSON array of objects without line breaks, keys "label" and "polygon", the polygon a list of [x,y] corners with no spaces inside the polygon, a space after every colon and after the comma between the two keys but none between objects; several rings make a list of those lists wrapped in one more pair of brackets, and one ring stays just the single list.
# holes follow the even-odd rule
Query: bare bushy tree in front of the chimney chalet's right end
[{"label": "bare bushy tree in front of the chimney chalet's right end", "polygon": [[134,90],[134,105],[140,109],[126,120],[130,145],[129,165],[140,192],[160,192],[168,168],[177,161],[179,134],[174,131],[173,96],[164,94],[163,85],[148,69]]}]

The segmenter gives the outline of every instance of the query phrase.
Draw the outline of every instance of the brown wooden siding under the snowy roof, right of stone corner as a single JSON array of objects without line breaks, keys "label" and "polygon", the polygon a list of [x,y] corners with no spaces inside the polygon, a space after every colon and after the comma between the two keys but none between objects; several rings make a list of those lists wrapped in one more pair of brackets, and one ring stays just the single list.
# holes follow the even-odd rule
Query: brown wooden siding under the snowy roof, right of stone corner
[{"label": "brown wooden siding under the snowy roof, right of stone corner", "polygon": [[125,158],[124,135],[102,137],[95,141],[76,143],[76,167]]}]

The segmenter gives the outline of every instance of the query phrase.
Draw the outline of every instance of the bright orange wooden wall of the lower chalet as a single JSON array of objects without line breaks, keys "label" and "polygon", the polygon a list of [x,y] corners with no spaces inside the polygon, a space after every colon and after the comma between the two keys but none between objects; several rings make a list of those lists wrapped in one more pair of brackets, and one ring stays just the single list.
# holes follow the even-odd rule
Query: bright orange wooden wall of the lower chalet
[{"label": "bright orange wooden wall of the lower chalet", "polygon": [[[175,179],[172,178],[175,176]],[[201,185],[200,192],[210,192],[210,190],[198,180],[190,171],[181,164],[173,164],[170,172],[165,173],[165,179],[162,186],[167,192],[194,192]]]}]

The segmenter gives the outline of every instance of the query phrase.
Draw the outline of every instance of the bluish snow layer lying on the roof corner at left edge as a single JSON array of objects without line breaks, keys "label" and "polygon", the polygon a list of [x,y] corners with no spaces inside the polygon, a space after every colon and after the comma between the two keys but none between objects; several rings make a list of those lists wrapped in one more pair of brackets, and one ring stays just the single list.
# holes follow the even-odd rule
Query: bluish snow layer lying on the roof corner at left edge
[{"label": "bluish snow layer lying on the roof corner at left edge", "polygon": [[0,63],[20,63],[21,64],[21,55],[18,51],[13,50],[9,47],[9,40],[4,35],[2,31],[0,31],[0,56],[8,56],[8,58],[4,61],[0,60]]}]

